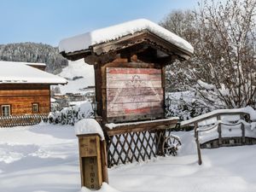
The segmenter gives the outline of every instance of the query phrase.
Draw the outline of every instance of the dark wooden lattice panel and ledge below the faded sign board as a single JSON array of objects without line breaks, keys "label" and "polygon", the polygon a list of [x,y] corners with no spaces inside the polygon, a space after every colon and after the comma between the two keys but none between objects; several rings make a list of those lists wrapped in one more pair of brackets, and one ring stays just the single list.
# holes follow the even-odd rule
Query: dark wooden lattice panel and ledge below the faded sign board
[{"label": "dark wooden lattice panel and ledge below the faded sign board", "polygon": [[108,167],[134,161],[150,160],[164,155],[162,145],[171,130],[177,125],[177,119],[166,122],[119,126],[107,132]]}]

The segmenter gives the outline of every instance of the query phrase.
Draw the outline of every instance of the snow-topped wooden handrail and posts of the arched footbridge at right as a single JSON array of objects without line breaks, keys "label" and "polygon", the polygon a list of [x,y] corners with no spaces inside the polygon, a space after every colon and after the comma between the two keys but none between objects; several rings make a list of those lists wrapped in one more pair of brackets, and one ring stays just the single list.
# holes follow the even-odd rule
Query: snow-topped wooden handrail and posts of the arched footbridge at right
[{"label": "snow-topped wooden handrail and posts of the arched footbridge at right", "polygon": [[[231,118],[235,117],[234,120],[229,121],[222,121],[224,118]],[[207,122],[208,121],[208,122]],[[223,137],[223,127],[222,125],[230,126],[230,130],[234,128],[237,125],[241,125],[241,136],[239,136],[238,140],[239,143],[237,144],[245,144],[246,143],[246,136],[245,136],[245,125],[250,123],[250,114],[246,111],[242,111],[239,109],[221,109],[212,111],[210,113],[206,113],[203,115],[200,115],[198,117],[195,117],[193,119],[185,120],[181,122],[181,127],[186,127],[188,125],[194,125],[194,131],[195,131],[195,143],[197,147],[197,154],[198,154],[198,164],[201,165],[201,146],[204,144],[203,142],[200,143],[200,137],[199,133],[212,131],[214,129],[218,132],[218,137],[212,137],[212,141],[217,139],[215,143],[213,143],[213,148],[215,147],[221,147],[221,146],[230,146],[234,143],[224,143],[227,139],[230,140],[232,138],[232,141],[237,139],[237,137]],[[236,128],[237,129],[237,128]],[[241,139],[240,139],[241,138]],[[209,140],[211,141],[211,139]],[[207,142],[209,142],[207,141]]]}]

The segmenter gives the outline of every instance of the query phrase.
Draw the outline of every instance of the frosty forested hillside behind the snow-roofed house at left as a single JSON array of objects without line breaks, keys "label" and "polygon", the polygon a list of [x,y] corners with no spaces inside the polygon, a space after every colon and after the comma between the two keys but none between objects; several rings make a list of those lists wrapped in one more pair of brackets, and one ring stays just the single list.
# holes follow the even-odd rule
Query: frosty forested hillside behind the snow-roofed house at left
[{"label": "frosty forested hillside behind the snow-roofed house at left", "polygon": [[46,63],[49,73],[61,73],[61,68],[67,67],[56,47],[49,44],[19,43],[0,44],[0,61],[24,61]]}]

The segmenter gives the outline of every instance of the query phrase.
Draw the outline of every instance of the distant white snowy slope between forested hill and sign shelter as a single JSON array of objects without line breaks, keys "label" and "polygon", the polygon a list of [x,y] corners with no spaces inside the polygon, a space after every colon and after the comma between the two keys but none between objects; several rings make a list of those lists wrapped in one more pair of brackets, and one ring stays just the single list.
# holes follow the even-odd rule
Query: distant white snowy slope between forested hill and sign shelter
[{"label": "distant white snowy slope between forested hill and sign shelter", "polygon": [[[66,85],[59,85],[61,94],[66,93],[81,93],[80,90],[87,86],[94,86],[94,69],[84,62],[84,60],[68,61],[68,66],[62,69],[59,74],[62,78],[67,79]],[[80,79],[74,79],[75,77],[83,77]]]}]

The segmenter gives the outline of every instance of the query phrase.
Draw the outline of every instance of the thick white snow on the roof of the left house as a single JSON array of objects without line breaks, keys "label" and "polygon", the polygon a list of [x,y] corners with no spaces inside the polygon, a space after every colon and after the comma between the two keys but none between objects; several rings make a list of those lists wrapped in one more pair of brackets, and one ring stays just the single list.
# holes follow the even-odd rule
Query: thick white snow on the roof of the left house
[{"label": "thick white snow on the roof of the left house", "polygon": [[0,84],[67,84],[66,79],[29,65],[36,63],[0,61]]}]

